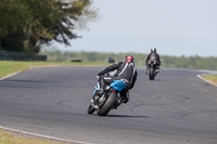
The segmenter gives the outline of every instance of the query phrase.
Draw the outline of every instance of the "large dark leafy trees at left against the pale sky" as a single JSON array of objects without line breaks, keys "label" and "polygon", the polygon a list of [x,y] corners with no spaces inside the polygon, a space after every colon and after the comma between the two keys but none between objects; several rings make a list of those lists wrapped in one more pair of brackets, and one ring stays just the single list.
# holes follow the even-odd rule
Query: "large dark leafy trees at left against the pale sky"
[{"label": "large dark leafy trees at left against the pale sky", "polygon": [[69,44],[97,14],[91,0],[1,0],[0,50],[40,52],[40,45],[58,41]]}]

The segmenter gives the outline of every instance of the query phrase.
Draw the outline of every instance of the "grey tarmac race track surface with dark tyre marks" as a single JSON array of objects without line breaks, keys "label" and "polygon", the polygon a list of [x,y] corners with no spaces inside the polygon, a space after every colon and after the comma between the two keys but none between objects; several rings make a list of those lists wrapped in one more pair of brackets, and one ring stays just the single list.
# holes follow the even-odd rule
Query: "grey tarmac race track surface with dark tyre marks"
[{"label": "grey tarmac race track surface with dark tyre marks", "polygon": [[217,88],[202,71],[138,67],[127,104],[88,115],[98,67],[40,67],[0,81],[0,126],[94,144],[217,144]]}]

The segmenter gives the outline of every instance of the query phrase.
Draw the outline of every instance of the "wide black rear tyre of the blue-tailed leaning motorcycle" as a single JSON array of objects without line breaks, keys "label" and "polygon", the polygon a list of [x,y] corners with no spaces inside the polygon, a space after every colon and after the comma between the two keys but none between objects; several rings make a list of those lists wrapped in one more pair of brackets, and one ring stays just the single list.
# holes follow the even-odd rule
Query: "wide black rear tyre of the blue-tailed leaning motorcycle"
[{"label": "wide black rear tyre of the blue-tailed leaning motorcycle", "polygon": [[98,109],[98,115],[99,116],[106,116],[107,113],[113,108],[113,106],[114,106],[114,104],[116,102],[116,99],[117,99],[117,94],[116,93],[110,92],[110,93],[107,93],[106,96],[107,96],[106,101]]}]

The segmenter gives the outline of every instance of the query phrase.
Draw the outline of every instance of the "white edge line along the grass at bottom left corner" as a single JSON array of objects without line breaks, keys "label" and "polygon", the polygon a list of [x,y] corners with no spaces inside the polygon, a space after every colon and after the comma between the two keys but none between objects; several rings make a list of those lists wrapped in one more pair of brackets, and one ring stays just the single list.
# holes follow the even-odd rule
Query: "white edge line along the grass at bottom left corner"
[{"label": "white edge line along the grass at bottom left corner", "polygon": [[48,139],[48,140],[61,141],[61,142],[65,142],[65,143],[91,144],[91,143],[86,143],[86,142],[81,142],[81,141],[72,141],[72,140],[65,140],[65,139],[60,139],[60,138],[54,138],[54,136],[48,136],[48,135],[21,131],[21,130],[11,129],[11,128],[7,128],[7,127],[2,127],[2,126],[0,126],[0,128],[3,129],[3,130],[12,131],[12,132],[20,132],[20,133],[23,133],[23,134],[28,134],[28,135],[38,136],[38,138],[44,138],[44,139]]}]

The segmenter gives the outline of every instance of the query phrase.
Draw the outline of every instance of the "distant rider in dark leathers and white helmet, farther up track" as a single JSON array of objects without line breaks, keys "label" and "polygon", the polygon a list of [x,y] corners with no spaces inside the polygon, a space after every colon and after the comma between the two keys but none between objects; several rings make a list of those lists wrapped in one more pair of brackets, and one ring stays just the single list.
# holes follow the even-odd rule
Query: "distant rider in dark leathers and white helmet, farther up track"
[{"label": "distant rider in dark leathers and white helmet, farther up track", "polygon": [[156,63],[156,66],[157,66],[156,68],[157,68],[157,70],[161,69],[159,66],[161,66],[162,61],[161,61],[159,54],[156,52],[156,48],[152,48],[152,49],[151,49],[151,53],[149,53],[148,56],[146,56],[146,58],[145,58],[146,74],[148,74],[148,69],[149,69],[148,61],[149,61],[152,56],[154,56],[154,57],[156,58],[156,61],[157,61],[157,63]]}]

